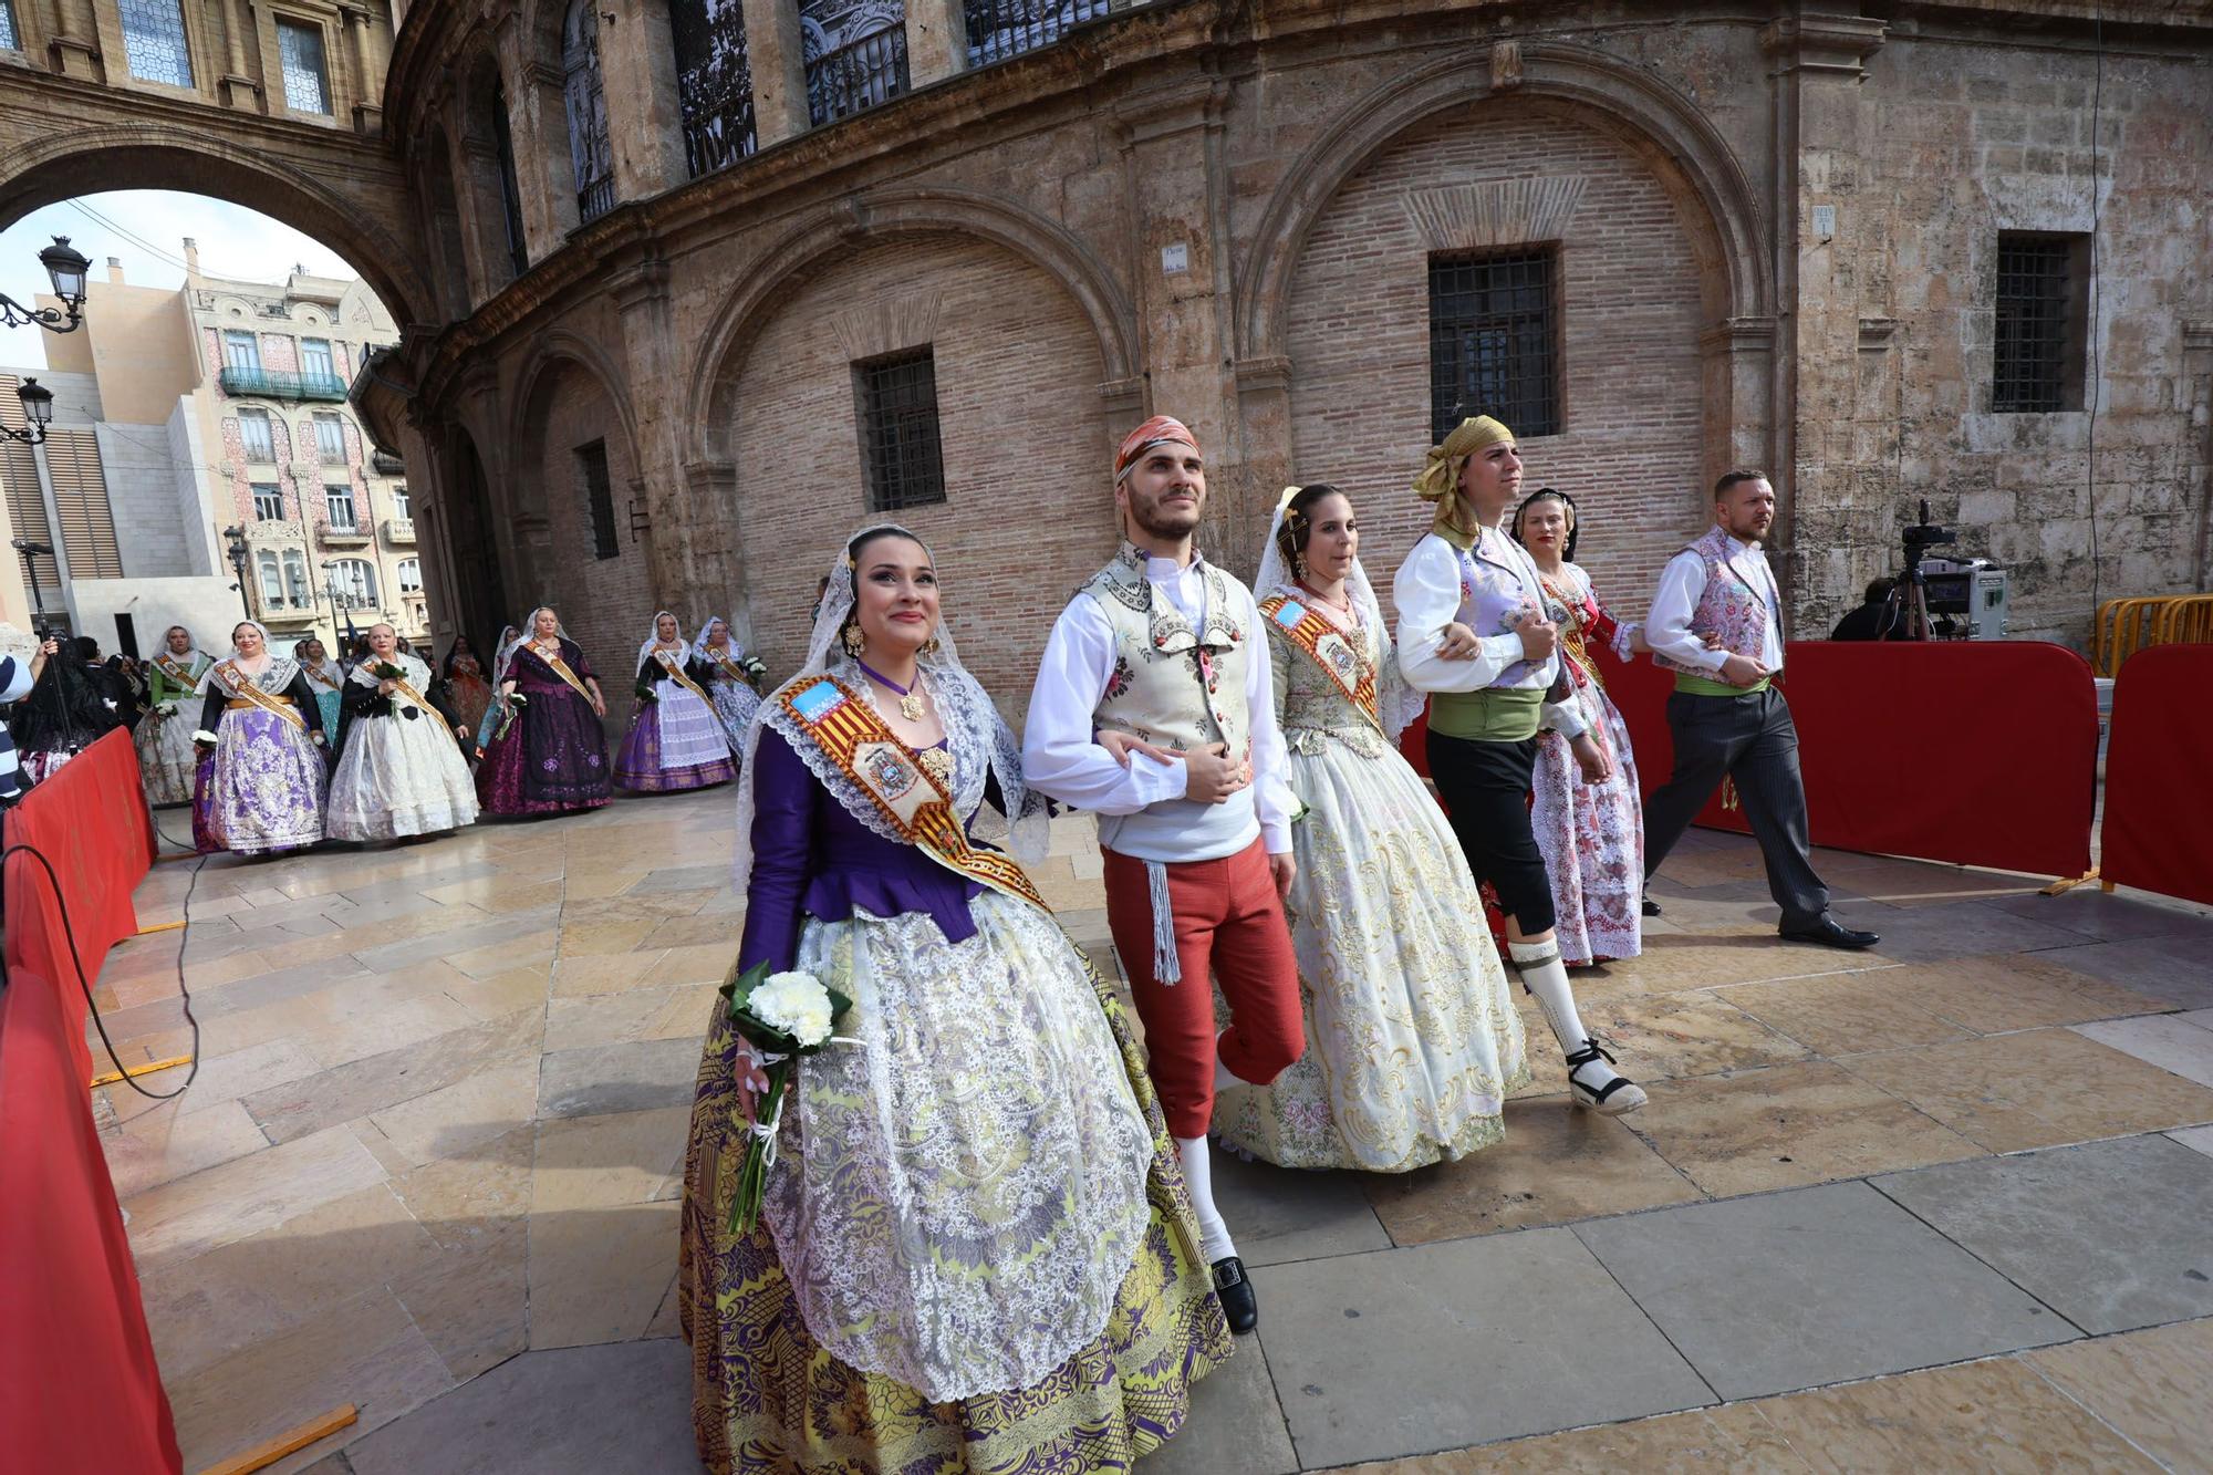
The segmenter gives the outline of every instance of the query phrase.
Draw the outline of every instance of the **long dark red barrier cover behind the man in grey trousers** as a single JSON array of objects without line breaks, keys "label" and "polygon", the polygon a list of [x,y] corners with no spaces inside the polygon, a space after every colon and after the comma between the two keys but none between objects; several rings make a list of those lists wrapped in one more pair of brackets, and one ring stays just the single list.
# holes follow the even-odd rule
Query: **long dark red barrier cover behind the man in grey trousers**
[{"label": "long dark red barrier cover behind the man in grey trousers", "polygon": [[[1607,651],[1598,664],[1651,793],[1675,762],[1666,729],[1675,678]],[[2036,875],[2089,870],[2098,689],[2080,656],[2036,640],[1793,640],[1784,664],[1817,846]],[[1427,773],[1421,731],[1407,729],[1405,749]],[[1748,828],[1720,793],[1697,822]]]}]

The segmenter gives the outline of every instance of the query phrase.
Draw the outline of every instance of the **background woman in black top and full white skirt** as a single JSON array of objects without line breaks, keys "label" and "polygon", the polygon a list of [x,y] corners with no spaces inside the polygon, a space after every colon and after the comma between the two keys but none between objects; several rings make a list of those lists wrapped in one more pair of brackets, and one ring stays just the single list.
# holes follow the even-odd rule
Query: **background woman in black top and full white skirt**
[{"label": "background woman in black top and full white skirt", "polygon": [[[396,671],[398,675],[385,675]],[[429,667],[370,627],[370,658],[345,678],[345,749],[323,819],[332,839],[436,835],[476,822],[476,782],[456,735],[474,735],[429,698]]]}]

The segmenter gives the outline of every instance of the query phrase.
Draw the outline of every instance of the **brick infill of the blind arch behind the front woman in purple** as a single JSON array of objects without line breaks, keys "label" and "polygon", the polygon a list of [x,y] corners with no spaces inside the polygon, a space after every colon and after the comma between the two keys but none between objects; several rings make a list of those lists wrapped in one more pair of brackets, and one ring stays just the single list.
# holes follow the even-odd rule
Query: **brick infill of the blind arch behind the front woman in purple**
[{"label": "brick infill of the blind arch behind the front woman in purple", "polygon": [[1020,713],[1053,616],[1115,534],[1098,337],[998,246],[938,235],[854,252],[755,339],[735,436],[752,633],[779,678],[806,653],[814,582],[872,518],[850,350],[918,348],[898,339],[929,317],[947,498],[892,516],[932,545],[963,662]]}]

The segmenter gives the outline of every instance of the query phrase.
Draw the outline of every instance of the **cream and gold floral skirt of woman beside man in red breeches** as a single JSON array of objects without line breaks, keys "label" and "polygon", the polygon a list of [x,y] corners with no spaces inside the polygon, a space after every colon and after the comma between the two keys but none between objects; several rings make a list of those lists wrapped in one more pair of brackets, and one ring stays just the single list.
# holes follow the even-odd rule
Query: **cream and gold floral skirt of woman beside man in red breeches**
[{"label": "cream and gold floral skirt of woman beside man in red breeches", "polygon": [[1306,1054],[1215,1101],[1224,1145],[1281,1167],[1401,1174],[1489,1147],[1529,1081],[1520,1014],[1467,859],[1396,749],[1292,733]]}]

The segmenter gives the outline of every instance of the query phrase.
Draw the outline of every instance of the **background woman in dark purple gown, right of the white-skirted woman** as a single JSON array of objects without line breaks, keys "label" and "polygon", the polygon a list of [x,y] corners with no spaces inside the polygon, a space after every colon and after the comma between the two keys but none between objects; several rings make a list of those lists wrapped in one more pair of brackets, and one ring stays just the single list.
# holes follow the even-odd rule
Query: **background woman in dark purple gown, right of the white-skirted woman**
[{"label": "background woman in dark purple gown, right of the white-skirted woman", "polygon": [[522,631],[493,675],[505,715],[476,771],[478,800],[489,815],[600,808],[609,800],[600,680],[551,609],[533,609]]}]

